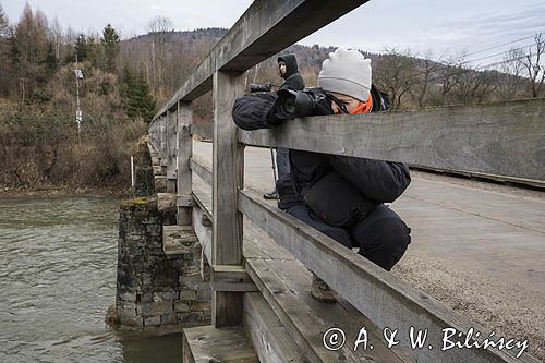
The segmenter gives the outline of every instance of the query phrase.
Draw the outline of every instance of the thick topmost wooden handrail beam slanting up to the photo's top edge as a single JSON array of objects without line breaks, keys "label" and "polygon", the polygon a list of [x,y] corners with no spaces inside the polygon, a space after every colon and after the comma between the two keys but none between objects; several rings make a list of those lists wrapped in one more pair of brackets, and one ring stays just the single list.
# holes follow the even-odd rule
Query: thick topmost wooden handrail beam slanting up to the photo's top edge
[{"label": "thick topmost wooden handrail beam slanting up to the photo's top edge", "polygon": [[214,72],[244,72],[366,1],[254,1],[155,118],[210,90]]}]

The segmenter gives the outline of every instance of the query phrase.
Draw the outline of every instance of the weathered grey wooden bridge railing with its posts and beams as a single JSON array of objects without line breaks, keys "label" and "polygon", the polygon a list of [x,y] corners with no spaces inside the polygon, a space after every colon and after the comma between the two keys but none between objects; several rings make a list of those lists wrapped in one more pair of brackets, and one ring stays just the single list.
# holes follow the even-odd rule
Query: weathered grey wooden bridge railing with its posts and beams
[{"label": "weathered grey wooden bridge railing with its posts and beams", "polygon": [[[193,225],[211,263],[213,276],[225,277],[233,268],[243,268],[245,217],[378,326],[395,326],[403,331],[411,326],[427,328],[429,342],[440,347],[441,330],[446,327],[460,331],[470,327],[486,329],[471,325],[425,293],[244,190],[245,145],[283,146],[545,181],[544,99],[508,102],[502,108],[472,106],[305,118],[275,130],[238,130],[231,110],[234,99],[244,94],[244,72],[364,2],[255,1],[157,112],[149,128],[150,149],[164,168],[167,191],[178,195],[179,225],[191,223],[192,216],[195,219],[204,214],[211,218],[211,235],[195,221]],[[211,170],[192,157],[191,137],[191,102],[210,89],[214,89]],[[211,187],[211,208],[198,198],[195,201],[192,172]],[[195,203],[201,211],[193,210]],[[213,288],[213,323],[217,327],[242,320],[244,289],[226,286]],[[422,349],[414,353],[426,361],[514,360],[512,353],[494,348],[449,352]]]}]

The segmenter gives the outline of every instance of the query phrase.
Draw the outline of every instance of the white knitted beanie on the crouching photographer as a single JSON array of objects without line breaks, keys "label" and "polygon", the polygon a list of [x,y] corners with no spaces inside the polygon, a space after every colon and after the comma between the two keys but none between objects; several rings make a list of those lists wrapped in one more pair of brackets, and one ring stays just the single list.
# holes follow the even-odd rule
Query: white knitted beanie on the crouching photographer
[{"label": "white knitted beanie on the crouching photographer", "polygon": [[366,101],[371,90],[371,59],[358,50],[338,48],[322,63],[318,87]]}]

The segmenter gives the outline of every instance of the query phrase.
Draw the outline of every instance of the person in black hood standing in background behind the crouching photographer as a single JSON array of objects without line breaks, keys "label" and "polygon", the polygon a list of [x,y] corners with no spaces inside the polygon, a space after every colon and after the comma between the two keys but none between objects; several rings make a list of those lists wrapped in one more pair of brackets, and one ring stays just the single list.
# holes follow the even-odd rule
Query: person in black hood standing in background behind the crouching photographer
[{"label": "person in black hood standing in background behind the crouching photographer", "polygon": [[[278,73],[284,80],[279,89],[302,90],[305,87],[303,76],[299,72],[298,59],[295,55],[283,55],[278,57]],[[276,149],[276,165],[278,178],[282,178],[290,172],[289,150],[284,147]],[[277,199],[278,192],[275,185],[272,192],[263,194],[265,199]]]}]

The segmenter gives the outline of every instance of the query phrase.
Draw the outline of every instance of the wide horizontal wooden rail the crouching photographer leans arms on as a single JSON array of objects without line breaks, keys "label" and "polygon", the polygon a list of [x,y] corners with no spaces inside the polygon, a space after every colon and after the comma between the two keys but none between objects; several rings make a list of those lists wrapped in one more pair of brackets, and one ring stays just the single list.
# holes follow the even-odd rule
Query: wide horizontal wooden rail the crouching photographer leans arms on
[{"label": "wide horizontal wooden rail the crouching photographer leans arms on", "polygon": [[[368,114],[335,114],[241,131],[239,141],[545,181],[545,98]],[[517,117],[513,117],[517,116]]]}]

